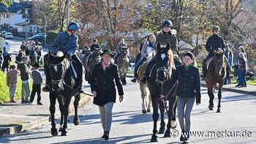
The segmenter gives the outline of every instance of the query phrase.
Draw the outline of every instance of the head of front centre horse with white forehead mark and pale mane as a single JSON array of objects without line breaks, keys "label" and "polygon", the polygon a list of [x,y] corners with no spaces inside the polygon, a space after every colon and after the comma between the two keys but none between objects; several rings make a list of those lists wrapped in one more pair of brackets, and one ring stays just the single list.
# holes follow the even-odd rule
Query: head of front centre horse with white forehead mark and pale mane
[{"label": "head of front centre horse with white forehead mark and pale mane", "polygon": [[[159,49],[160,45],[159,43],[157,44],[157,48]],[[169,43],[166,45],[166,48],[167,49],[170,49],[170,45]],[[169,55],[172,55],[172,53],[164,53],[164,52],[161,52],[159,51],[157,53],[157,56],[156,56],[156,68],[157,68],[157,83],[165,83],[169,78],[170,78],[170,75],[171,75],[171,67],[172,67],[172,64],[173,64],[173,60],[171,60],[170,58],[173,58],[172,56],[169,56]]]}]

